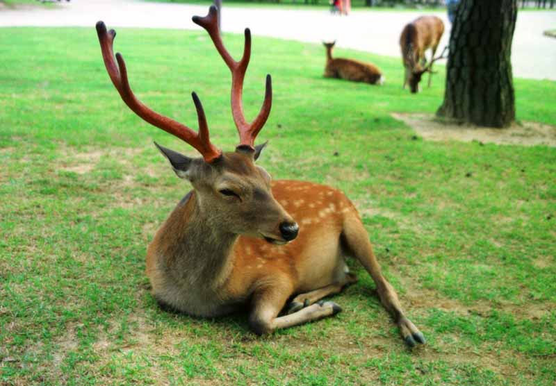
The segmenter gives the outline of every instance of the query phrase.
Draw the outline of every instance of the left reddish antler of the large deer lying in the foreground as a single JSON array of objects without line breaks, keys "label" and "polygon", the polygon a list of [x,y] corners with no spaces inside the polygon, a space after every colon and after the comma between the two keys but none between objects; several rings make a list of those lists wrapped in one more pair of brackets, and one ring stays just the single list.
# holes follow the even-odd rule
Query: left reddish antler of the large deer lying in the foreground
[{"label": "left reddish antler of the large deer lying in the foreground", "polygon": [[203,106],[199,97],[197,97],[197,94],[193,92],[192,96],[193,102],[195,103],[195,109],[197,110],[197,118],[199,120],[199,133],[195,133],[195,131],[177,121],[174,121],[174,119],[158,114],[158,112],[151,110],[141,103],[141,101],[139,101],[131,91],[131,87],[129,87],[126,64],[122,54],[119,52],[116,53],[117,64],[114,60],[113,42],[116,36],[116,31],[113,29],[106,31],[104,22],[98,22],[97,35],[99,35],[102,58],[104,59],[106,71],[126,105],[129,106],[129,108],[131,108],[131,110],[133,110],[133,112],[135,112],[139,117],[149,122],[149,124],[161,128],[163,131],[175,135],[193,146],[197,149],[197,151],[199,151],[199,153],[202,154],[206,162],[213,162],[220,158],[222,151],[211,144],[208,136],[208,125],[206,124]]}]

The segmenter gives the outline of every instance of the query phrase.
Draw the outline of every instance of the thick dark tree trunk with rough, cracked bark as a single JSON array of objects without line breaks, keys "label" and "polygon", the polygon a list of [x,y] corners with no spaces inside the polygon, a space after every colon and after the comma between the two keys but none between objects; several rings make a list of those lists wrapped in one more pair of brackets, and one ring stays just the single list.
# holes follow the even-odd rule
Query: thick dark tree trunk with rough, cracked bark
[{"label": "thick dark tree trunk with rough, cracked bark", "polygon": [[516,116],[512,38],[517,0],[462,0],[450,35],[444,102],[437,115],[507,127]]}]

